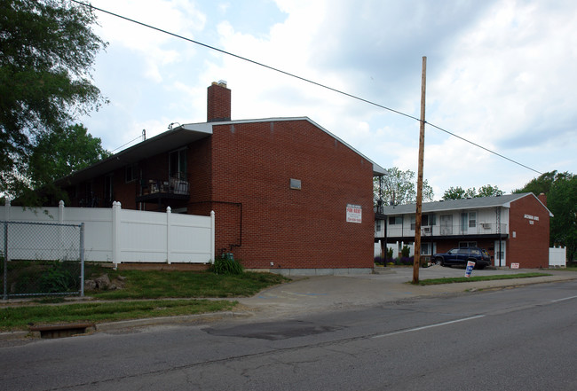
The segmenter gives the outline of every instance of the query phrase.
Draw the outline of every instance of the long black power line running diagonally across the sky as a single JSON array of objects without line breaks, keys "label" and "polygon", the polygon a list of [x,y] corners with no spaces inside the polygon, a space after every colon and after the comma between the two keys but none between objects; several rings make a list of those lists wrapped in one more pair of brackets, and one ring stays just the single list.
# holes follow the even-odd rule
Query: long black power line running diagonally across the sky
[{"label": "long black power line running diagonally across the sky", "polygon": [[[232,56],[232,57],[234,57],[234,58],[236,58],[236,59],[241,59],[241,60],[247,61],[247,62],[249,62],[249,63],[251,63],[251,64],[265,67],[265,68],[270,69],[270,70],[272,70],[272,71],[274,71],[274,72],[278,72],[278,73],[281,73],[281,74],[286,74],[287,76],[296,78],[296,79],[301,80],[301,81],[303,81],[303,82],[308,82],[308,83],[310,83],[310,84],[316,85],[316,86],[321,87],[321,88],[323,88],[323,89],[331,90],[331,91],[333,91],[333,92],[336,92],[337,94],[341,94],[341,95],[344,95],[345,97],[349,97],[349,98],[353,98],[353,99],[359,100],[359,101],[361,101],[361,102],[367,103],[368,105],[372,105],[372,106],[376,106],[376,107],[382,108],[382,109],[384,109],[384,110],[390,111],[391,113],[397,113],[397,114],[399,114],[399,115],[402,115],[402,116],[404,116],[404,117],[410,118],[410,119],[412,119],[412,120],[421,121],[421,119],[419,119],[419,118],[417,118],[417,117],[415,117],[415,116],[413,116],[413,115],[399,112],[398,110],[392,109],[391,107],[379,105],[378,103],[375,103],[375,102],[370,101],[370,100],[368,100],[368,99],[360,98],[360,97],[358,97],[358,96],[356,96],[356,95],[352,95],[352,94],[350,94],[350,93],[348,93],[348,92],[344,92],[343,90],[337,90],[337,89],[335,89],[335,88],[333,88],[333,87],[329,87],[329,86],[326,85],[326,84],[322,84],[322,83],[320,83],[320,82],[314,82],[314,81],[312,81],[311,79],[307,79],[307,78],[305,78],[305,77],[303,77],[303,76],[299,76],[299,75],[297,75],[297,74],[291,74],[291,73],[289,73],[289,72],[287,72],[287,71],[283,71],[282,69],[276,68],[276,67],[274,67],[274,66],[268,66],[268,65],[266,65],[266,64],[263,64],[263,63],[261,63],[261,62],[258,62],[258,61],[256,61],[256,60],[254,60],[254,59],[248,59],[248,58],[242,57],[242,56],[240,56],[240,55],[238,55],[238,54],[234,54],[234,53],[232,53],[232,52],[230,52],[230,51],[225,51],[225,50],[222,50],[222,49],[218,49],[217,47],[211,46],[211,45],[209,45],[209,44],[207,44],[207,43],[202,43],[202,42],[200,42],[200,41],[195,41],[194,39],[187,38],[186,36],[178,35],[178,34],[176,34],[176,33],[172,33],[172,32],[170,32],[170,31],[164,30],[164,29],[162,29],[162,28],[154,27],[154,26],[148,25],[148,24],[146,24],[146,23],[144,23],[144,22],[127,18],[127,17],[125,17],[125,16],[123,16],[123,15],[119,15],[119,14],[117,14],[117,13],[115,13],[115,12],[109,12],[109,11],[104,10],[104,9],[102,9],[102,8],[95,7],[95,6],[92,5],[92,4],[86,4],[86,3],[83,3],[83,2],[80,2],[80,1],[77,1],[77,0],[71,0],[71,1],[72,1],[73,3],[76,3],[76,4],[81,4],[81,5],[90,7],[90,8],[92,8],[92,9],[94,9],[94,10],[99,11],[99,12],[107,13],[108,15],[112,15],[112,16],[114,16],[114,17],[116,17],[116,18],[120,18],[120,19],[123,19],[123,20],[127,20],[127,21],[130,21],[131,23],[135,23],[135,24],[140,25],[140,26],[143,26],[143,27],[151,28],[151,29],[156,30],[156,31],[158,31],[158,32],[161,32],[161,33],[163,33],[163,34],[172,35],[172,36],[174,36],[174,37],[176,37],[176,38],[178,38],[178,39],[182,39],[182,40],[187,41],[187,42],[190,42],[190,43],[195,43],[195,44],[200,45],[200,46],[202,46],[202,47],[205,47],[205,48],[207,48],[207,49],[210,49],[210,50],[213,50],[213,51],[218,51],[218,52],[223,53],[223,54],[226,54],[226,55],[228,55],[228,56]],[[482,150],[484,150],[484,151],[486,151],[486,152],[493,153],[494,155],[496,155],[496,156],[498,156],[498,157],[500,157],[500,158],[502,158],[502,159],[509,160],[510,162],[515,163],[515,164],[517,164],[517,165],[519,165],[519,166],[521,166],[521,167],[523,167],[523,168],[527,168],[527,169],[529,169],[529,170],[531,170],[531,171],[534,171],[534,172],[536,172],[537,174],[540,174],[540,175],[542,174],[540,171],[537,171],[537,170],[534,169],[534,168],[530,168],[530,167],[526,166],[525,164],[518,162],[517,160],[512,160],[512,159],[510,159],[510,158],[502,155],[502,154],[499,153],[499,152],[494,152],[493,150],[490,150],[490,149],[488,149],[488,148],[486,148],[486,147],[484,147],[484,146],[482,146],[482,145],[478,145],[478,144],[476,144],[476,143],[474,143],[474,142],[472,142],[472,141],[470,141],[470,140],[468,140],[468,139],[466,139],[466,138],[464,138],[464,137],[457,136],[457,135],[454,134],[453,132],[450,132],[450,131],[448,131],[447,129],[443,129],[443,128],[435,125],[435,124],[432,124],[431,122],[424,121],[424,123],[428,123],[431,127],[435,128],[435,129],[439,129],[439,130],[447,133],[447,134],[450,135],[450,136],[457,137],[457,138],[461,139],[462,141],[464,141],[464,142],[466,142],[466,143],[469,143],[470,145],[477,146],[478,148],[481,148]]]}]

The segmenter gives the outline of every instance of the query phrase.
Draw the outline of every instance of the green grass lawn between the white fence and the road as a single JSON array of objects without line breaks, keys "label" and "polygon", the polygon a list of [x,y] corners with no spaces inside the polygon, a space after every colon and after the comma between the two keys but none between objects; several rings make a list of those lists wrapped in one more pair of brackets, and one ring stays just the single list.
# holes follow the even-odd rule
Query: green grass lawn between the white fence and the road
[{"label": "green grass lawn between the white fence and the road", "polygon": [[[123,289],[85,292],[98,302],[68,303],[57,297],[18,306],[8,303],[10,307],[0,308],[0,331],[25,330],[30,324],[102,323],[225,311],[237,302],[205,298],[252,296],[268,286],[289,281],[277,274],[254,272],[216,275],[209,271],[89,270],[106,272],[111,280],[122,276]],[[88,272],[86,278],[90,278]]]}]

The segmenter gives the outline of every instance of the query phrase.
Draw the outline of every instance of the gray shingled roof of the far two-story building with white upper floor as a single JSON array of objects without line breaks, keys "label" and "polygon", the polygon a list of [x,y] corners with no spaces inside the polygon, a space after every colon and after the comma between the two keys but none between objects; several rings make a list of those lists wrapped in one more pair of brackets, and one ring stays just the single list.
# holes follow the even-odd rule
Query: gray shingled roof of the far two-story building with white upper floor
[{"label": "gray shingled roof of the far two-story building with white upper floor", "polygon": [[[518,194],[506,194],[497,197],[449,199],[447,201],[423,202],[423,213],[443,212],[446,210],[480,209],[484,207],[510,207],[510,203],[512,201],[522,199],[523,197],[527,196],[534,197],[534,194],[532,192],[523,192]],[[415,208],[416,204],[383,207],[383,215],[407,215],[415,213]]]}]

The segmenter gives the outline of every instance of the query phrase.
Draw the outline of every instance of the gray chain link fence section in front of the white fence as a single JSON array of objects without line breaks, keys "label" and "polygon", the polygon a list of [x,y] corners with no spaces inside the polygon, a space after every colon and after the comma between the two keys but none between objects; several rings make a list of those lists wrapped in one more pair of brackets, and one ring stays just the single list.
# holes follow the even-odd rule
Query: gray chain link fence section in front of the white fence
[{"label": "gray chain link fence section in front of the white fence", "polygon": [[84,295],[84,224],[0,221],[4,300]]}]

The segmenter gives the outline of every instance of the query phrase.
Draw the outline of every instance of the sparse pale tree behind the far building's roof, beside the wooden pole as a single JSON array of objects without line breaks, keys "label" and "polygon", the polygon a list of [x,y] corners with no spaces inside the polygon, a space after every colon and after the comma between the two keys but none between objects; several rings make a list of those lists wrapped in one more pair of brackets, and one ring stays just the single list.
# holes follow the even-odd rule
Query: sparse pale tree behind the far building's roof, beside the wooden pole
[{"label": "sparse pale tree behind the far building's roof, beside the wooden pole", "polygon": [[[416,202],[415,173],[410,169],[401,171],[393,167],[386,169],[384,176],[373,180],[375,204],[383,200],[385,205],[412,204]],[[423,201],[432,201],[433,190],[427,180],[423,180]]]}]

